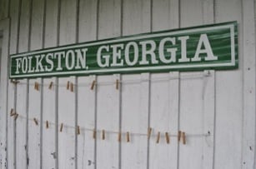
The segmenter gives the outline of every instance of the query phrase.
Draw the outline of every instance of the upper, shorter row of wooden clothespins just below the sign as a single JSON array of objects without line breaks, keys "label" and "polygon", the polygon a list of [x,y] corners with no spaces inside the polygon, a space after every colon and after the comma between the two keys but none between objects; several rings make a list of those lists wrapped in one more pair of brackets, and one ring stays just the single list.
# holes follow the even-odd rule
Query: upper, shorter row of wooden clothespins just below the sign
[{"label": "upper, shorter row of wooden clothespins just below the sign", "polygon": [[[13,82],[13,84],[18,84],[18,81],[13,81],[13,80],[11,80],[11,82]],[[117,90],[119,89],[119,83],[120,83],[120,82],[119,82],[119,80],[117,79],[116,82],[115,82],[115,87],[116,87]],[[96,81],[93,80],[93,82],[91,83],[90,89],[93,90],[95,86],[96,86]],[[39,89],[40,89],[40,84],[39,84],[38,82],[34,82],[34,89],[37,90],[37,91],[39,91]],[[52,89],[53,89],[53,82],[50,82],[50,83],[49,83],[48,89],[49,89],[49,90],[52,90]],[[70,81],[67,82],[67,90],[69,90],[69,91],[71,91],[71,92],[74,91],[74,83],[73,83],[73,82],[70,82]]]}]

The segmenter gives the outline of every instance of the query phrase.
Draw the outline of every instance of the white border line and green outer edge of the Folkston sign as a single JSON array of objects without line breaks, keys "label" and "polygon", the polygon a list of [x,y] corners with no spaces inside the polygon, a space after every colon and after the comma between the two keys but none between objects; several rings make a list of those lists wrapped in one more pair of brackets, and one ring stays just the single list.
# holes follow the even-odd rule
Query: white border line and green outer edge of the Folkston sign
[{"label": "white border line and green outer edge of the Folkston sign", "polygon": [[[145,38],[156,38],[159,36],[172,36],[177,34],[188,34],[191,32],[210,32],[212,30],[218,30],[228,28],[230,29],[230,47],[231,47],[231,60],[230,62],[192,62],[192,63],[184,63],[180,65],[160,65],[153,66],[148,64],[147,67],[114,67],[114,68],[99,68],[97,70],[80,70],[80,71],[68,71],[68,72],[43,72],[43,73],[33,73],[33,74],[12,74],[12,58],[14,57],[28,57],[28,55],[36,55],[42,52],[54,52],[61,50],[68,50],[77,47],[90,47],[96,45],[103,45],[108,43],[115,42],[127,42]],[[96,60],[96,56],[95,56]],[[214,70],[228,70],[238,68],[238,23],[237,22],[224,22],[218,24],[210,24],[198,27],[185,27],[180,29],[173,29],[168,31],[161,32],[150,32],[150,33],[142,33],[133,36],[125,36],[125,37],[117,37],[117,38],[109,38],[103,39],[93,42],[83,42],[77,44],[70,44],[61,47],[50,47],[41,50],[36,50],[32,52],[23,52],[18,54],[13,54],[10,56],[10,78],[25,78],[25,77],[68,77],[68,76],[87,76],[91,74],[113,74],[113,73],[138,73],[138,72],[170,72],[170,71],[199,71],[206,69],[214,69]]]}]

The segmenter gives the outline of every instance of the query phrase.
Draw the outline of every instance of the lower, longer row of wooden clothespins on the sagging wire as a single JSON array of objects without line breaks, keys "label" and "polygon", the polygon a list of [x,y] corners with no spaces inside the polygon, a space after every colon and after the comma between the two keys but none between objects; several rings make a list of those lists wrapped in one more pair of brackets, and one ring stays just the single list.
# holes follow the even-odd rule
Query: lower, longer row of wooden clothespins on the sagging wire
[{"label": "lower, longer row of wooden clothespins on the sagging wire", "polygon": [[[14,112],[14,110],[12,109],[11,113],[10,113],[10,116],[14,117],[14,120],[17,120],[18,113]],[[35,123],[36,126],[38,126],[38,119],[37,118],[33,118],[33,122]],[[49,122],[46,121],[45,124],[46,124],[46,128],[48,129],[49,128]],[[60,128],[59,128],[59,132],[63,132],[63,127],[64,127],[64,125],[63,125],[63,123],[61,123]],[[91,129],[90,131],[93,131],[93,139],[96,139],[97,132],[102,133],[102,140],[106,139],[106,133],[107,132],[105,130],[97,131],[95,129]],[[149,127],[148,128],[148,134],[147,134],[148,139],[150,139],[150,137],[152,137],[152,131],[153,131],[152,127]],[[81,132],[80,132],[80,127],[79,126],[76,127],[76,132],[77,132],[78,135],[80,135]],[[123,133],[122,132],[112,132],[112,133],[117,133],[118,134],[118,142],[121,142]],[[130,142],[131,133],[126,132],[125,135],[126,135],[126,142]],[[141,135],[144,136],[144,134],[141,134]],[[186,134],[185,134],[185,132],[178,131],[177,136],[178,136],[178,142],[180,142],[181,139],[182,139],[183,144],[186,144]],[[166,143],[169,144],[170,143],[169,132],[164,132],[164,137],[165,137]],[[157,144],[160,142],[160,138],[161,138],[161,132],[158,132],[157,135],[156,135],[156,143]]]}]

